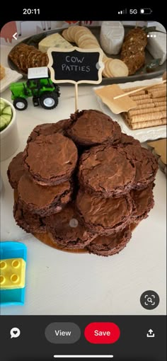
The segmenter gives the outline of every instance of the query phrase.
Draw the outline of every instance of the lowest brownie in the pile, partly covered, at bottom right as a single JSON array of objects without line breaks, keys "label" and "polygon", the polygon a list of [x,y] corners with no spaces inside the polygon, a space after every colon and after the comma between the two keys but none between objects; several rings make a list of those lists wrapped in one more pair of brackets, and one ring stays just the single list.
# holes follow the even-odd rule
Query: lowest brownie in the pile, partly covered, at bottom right
[{"label": "lowest brownie in the pile, partly covered, at bottom right", "polygon": [[97,236],[87,248],[90,253],[98,256],[113,256],[122,251],[131,239],[132,232],[127,226],[122,231],[111,234],[110,236]]}]

